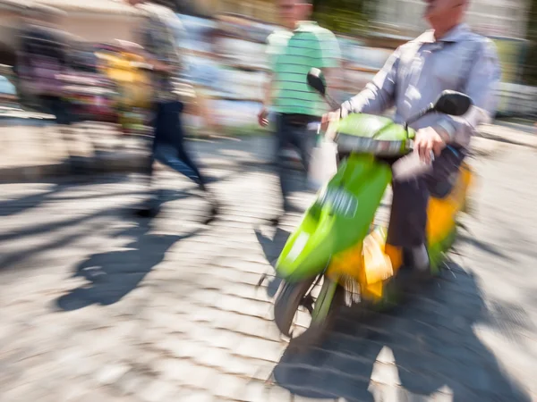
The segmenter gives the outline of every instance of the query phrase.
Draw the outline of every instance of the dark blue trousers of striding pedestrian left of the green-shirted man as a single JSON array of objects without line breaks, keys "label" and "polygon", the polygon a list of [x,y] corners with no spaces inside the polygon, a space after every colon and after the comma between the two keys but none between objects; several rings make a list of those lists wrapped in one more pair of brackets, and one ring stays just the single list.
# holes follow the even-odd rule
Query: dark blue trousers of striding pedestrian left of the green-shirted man
[{"label": "dark blue trousers of striding pedestrian left of the green-shirted man", "polygon": [[171,101],[156,105],[154,138],[149,159],[149,177],[153,175],[153,163],[166,164],[176,172],[182,173],[205,189],[205,180],[196,164],[184,148],[184,132],[181,113],[183,103]]}]

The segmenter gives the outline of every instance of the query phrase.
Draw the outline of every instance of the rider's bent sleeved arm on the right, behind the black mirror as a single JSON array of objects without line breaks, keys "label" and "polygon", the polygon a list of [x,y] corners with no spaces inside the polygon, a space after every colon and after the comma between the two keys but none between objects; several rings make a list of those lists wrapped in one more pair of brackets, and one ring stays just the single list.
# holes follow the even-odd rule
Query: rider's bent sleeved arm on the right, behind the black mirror
[{"label": "rider's bent sleeved arm on the right, behind the black mirror", "polygon": [[470,69],[463,92],[473,100],[473,106],[463,117],[444,115],[438,128],[447,135],[447,142],[467,145],[480,124],[491,121],[498,98],[496,88],[500,80],[500,67],[495,46],[487,39]]}]

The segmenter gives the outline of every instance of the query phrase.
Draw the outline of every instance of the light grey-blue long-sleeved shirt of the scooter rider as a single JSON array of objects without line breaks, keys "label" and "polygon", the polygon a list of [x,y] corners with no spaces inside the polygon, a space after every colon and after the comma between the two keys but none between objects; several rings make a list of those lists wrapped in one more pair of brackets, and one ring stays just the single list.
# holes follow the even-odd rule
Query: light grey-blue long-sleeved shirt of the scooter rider
[{"label": "light grey-blue long-sleeved shirt of the scooter rider", "polygon": [[461,24],[439,40],[432,30],[399,46],[360,94],[342,105],[342,114],[383,113],[396,107],[403,122],[434,102],[446,89],[465,93],[472,109],[461,117],[433,113],[412,124],[414,129],[440,127],[453,141],[468,146],[477,125],[496,113],[499,84],[496,47],[488,38]]}]

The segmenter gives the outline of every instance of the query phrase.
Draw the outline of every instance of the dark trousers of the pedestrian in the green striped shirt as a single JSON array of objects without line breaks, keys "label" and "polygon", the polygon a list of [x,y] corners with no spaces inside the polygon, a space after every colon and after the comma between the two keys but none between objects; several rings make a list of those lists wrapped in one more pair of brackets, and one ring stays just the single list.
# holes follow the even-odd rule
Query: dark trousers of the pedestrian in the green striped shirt
[{"label": "dark trousers of the pedestrian in the green striped shirt", "polygon": [[311,149],[315,145],[315,133],[308,130],[308,124],[312,121],[319,121],[320,118],[307,114],[286,114],[278,113],[276,118],[276,164],[280,182],[280,188],[284,201],[284,208],[287,205],[287,196],[290,186],[287,182],[288,170],[286,160],[282,151],[287,147],[296,149],[302,159],[304,172],[308,173],[310,168]]}]

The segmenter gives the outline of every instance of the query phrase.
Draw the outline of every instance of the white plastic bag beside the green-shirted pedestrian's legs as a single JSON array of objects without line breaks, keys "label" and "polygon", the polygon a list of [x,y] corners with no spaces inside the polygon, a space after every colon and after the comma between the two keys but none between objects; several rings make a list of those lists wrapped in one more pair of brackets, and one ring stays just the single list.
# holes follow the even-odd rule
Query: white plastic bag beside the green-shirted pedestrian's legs
[{"label": "white plastic bag beside the green-shirted pedestrian's legs", "polygon": [[313,190],[320,189],[337,172],[337,144],[323,138],[311,150],[308,185]]}]

